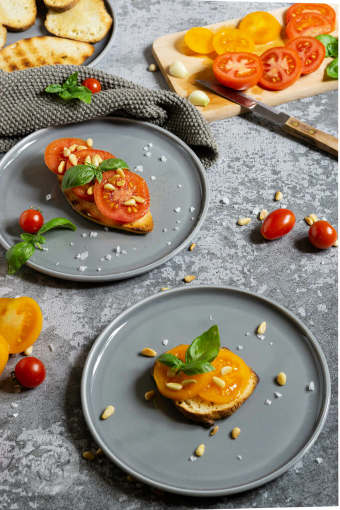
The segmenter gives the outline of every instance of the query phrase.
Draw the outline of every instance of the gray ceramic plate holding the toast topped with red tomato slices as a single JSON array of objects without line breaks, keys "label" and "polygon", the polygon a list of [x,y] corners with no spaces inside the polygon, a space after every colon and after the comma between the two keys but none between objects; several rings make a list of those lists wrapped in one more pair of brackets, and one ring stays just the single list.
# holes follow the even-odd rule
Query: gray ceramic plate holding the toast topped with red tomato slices
[{"label": "gray ceramic plate holding the toast topped with red tomato slices", "polygon": [[[143,235],[107,232],[71,208],[56,174],[44,163],[48,143],[67,136],[85,140],[91,137],[94,147],[122,158],[130,168],[143,166],[140,175],[150,191],[153,232]],[[151,156],[147,158],[143,148],[149,143]],[[162,156],[167,159],[164,163],[160,161]],[[48,194],[51,199],[46,201]],[[207,177],[197,156],[179,138],[148,122],[105,117],[50,127],[22,139],[0,161],[0,243],[8,249],[20,241],[19,215],[32,206],[42,209],[45,221],[58,216],[70,219],[77,231],[47,232],[44,247],[48,251],[36,250],[27,263],[38,271],[69,280],[117,280],[164,264],[188,247],[206,216],[208,202]],[[177,208],[180,212],[176,213]],[[91,232],[97,236],[90,237]],[[88,257],[80,262],[76,256],[85,251]],[[111,260],[106,259],[107,255]],[[80,272],[81,266],[87,269]]]}]

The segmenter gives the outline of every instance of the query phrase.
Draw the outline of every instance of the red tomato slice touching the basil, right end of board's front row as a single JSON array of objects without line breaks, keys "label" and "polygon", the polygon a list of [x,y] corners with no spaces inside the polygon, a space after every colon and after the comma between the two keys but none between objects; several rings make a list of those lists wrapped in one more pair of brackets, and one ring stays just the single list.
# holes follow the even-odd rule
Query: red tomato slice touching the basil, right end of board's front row
[{"label": "red tomato slice touching the basil, right end of board's front row", "polygon": [[295,49],[302,63],[301,74],[316,71],[322,64],[326,55],[326,48],[315,37],[301,36],[287,43],[289,48]]}]

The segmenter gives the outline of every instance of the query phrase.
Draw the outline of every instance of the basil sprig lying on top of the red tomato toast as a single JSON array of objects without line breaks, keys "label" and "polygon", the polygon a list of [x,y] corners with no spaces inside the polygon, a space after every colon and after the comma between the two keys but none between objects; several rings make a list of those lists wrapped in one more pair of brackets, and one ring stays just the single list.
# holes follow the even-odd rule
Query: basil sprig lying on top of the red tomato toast
[{"label": "basil sprig lying on top of the red tomato toast", "polygon": [[99,166],[94,166],[91,163],[71,166],[64,174],[62,190],[64,191],[69,188],[75,188],[76,186],[82,186],[83,184],[90,183],[94,178],[100,183],[102,172],[117,170],[117,168],[128,168],[128,166],[125,161],[119,158],[104,160]]}]

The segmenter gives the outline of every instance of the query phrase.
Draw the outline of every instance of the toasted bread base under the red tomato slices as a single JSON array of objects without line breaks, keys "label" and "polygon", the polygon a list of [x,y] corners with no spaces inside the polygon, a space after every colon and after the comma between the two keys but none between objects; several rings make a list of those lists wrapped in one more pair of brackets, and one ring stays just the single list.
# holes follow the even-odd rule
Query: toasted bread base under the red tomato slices
[{"label": "toasted bread base under the red tomato slices", "polygon": [[[63,182],[63,176],[57,175],[58,182],[61,187]],[[112,228],[118,228],[119,230],[125,230],[127,232],[134,232],[135,234],[146,234],[153,230],[153,220],[150,211],[148,211],[142,218],[133,223],[122,223],[121,221],[115,221],[104,216],[96,206],[95,202],[88,202],[77,196],[72,189],[63,191],[67,201],[70,203],[72,208],[85,218],[99,223],[100,225],[110,226]]]}]

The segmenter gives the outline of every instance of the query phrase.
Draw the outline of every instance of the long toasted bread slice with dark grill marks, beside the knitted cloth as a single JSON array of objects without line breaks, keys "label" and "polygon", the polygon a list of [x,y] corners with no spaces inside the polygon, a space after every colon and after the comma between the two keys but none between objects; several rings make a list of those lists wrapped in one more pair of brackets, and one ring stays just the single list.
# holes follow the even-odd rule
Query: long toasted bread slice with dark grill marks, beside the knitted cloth
[{"label": "long toasted bread slice with dark grill marks, beside the knitted cloth", "polygon": [[0,69],[7,72],[53,64],[82,64],[94,52],[86,42],[38,36],[20,39],[0,51]]}]

